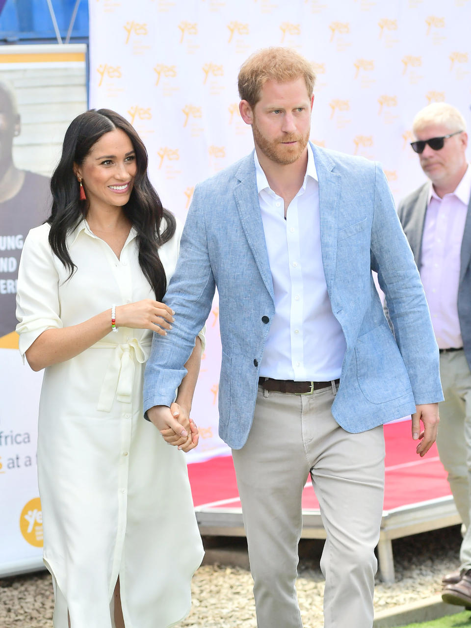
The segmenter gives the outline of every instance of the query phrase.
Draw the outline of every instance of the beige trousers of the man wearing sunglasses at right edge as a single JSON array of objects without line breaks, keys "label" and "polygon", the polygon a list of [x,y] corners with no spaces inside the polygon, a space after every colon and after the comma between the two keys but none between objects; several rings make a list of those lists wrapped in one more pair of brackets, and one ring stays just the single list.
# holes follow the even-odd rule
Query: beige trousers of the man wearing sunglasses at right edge
[{"label": "beige trousers of the man wearing sunglasses at right edge", "polygon": [[464,351],[440,354],[443,388],[436,445],[448,473],[453,499],[466,534],[460,550],[462,569],[471,569],[471,372]]}]

